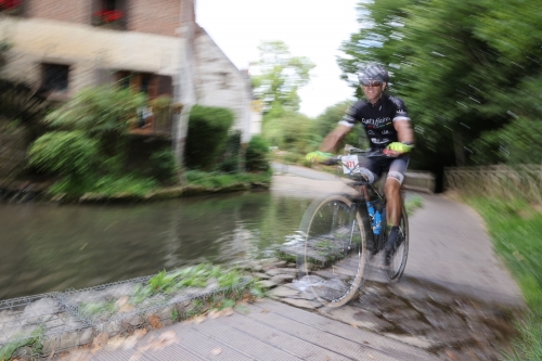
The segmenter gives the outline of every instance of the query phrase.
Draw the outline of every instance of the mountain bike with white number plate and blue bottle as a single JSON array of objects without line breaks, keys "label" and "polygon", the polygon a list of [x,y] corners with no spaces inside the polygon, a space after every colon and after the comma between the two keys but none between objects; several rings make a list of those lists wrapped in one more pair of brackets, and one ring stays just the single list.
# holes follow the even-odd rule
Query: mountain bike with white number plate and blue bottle
[{"label": "mountain bike with white number plate and blue bottle", "polygon": [[[384,249],[387,238],[385,194],[361,175],[360,164],[364,158],[388,156],[359,149],[349,153],[340,157],[340,163],[344,172],[354,180],[348,185],[357,195],[328,194],[312,202],[297,238],[304,243],[302,252],[297,252],[299,275],[309,283],[315,298],[328,307],[340,307],[356,297],[363,285],[369,259]],[[375,214],[370,215],[367,202]],[[408,253],[409,221],[403,202],[396,252],[385,270],[389,282],[397,282],[403,274]]]}]

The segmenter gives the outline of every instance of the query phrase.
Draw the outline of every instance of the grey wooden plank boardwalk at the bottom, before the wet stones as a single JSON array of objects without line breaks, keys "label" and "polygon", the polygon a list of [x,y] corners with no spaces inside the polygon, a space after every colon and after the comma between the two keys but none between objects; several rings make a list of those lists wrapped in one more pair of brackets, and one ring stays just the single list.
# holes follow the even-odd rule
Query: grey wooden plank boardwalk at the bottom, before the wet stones
[{"label": "grey wooden plank boardwalk at the bottom, before the wet stones", "polygon": [[263,300],[229,317],[152,331],[130,348],[120,346],[108,350],[106,347],[92,354],[80,350],[64,359],[423,361],[437,360],[437,357],[317,313]]}]

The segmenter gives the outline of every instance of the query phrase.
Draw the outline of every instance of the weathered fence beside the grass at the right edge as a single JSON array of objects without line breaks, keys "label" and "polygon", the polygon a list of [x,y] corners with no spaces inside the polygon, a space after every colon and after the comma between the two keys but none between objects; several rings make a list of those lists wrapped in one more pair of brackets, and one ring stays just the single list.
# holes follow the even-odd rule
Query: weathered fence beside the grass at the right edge
[{"label": "weathered fence beside the grass at the right edge", "polygon": [[444,168],[444,186],[468,195],[542,201],[542,165]]}]

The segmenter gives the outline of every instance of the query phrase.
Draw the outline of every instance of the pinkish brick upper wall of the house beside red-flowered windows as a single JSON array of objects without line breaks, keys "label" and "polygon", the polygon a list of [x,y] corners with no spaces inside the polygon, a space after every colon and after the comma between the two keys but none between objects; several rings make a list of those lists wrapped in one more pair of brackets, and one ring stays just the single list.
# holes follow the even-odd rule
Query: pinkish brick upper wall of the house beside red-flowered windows
[{"label": "pinkish brick upper wall of the house beside red-flowered windows", "polygon": [[[176,36],[181,0],[125,0],[127,30]],[[91,25],[92,0],[26,0],[25,16]]]}]

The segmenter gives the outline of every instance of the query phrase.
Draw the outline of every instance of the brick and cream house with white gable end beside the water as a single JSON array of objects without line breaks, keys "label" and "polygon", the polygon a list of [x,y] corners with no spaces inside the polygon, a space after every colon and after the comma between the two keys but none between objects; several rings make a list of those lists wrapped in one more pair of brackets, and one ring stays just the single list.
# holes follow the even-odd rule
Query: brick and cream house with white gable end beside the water
[{"label": "brick and cream house with white gable end beside the water", "polygon": [[[111,82],[179,101],[188,70],[192,102],[231,108],[248,141],[249,79],[197,26],[194,0],[0,0],[0,41],[13,46],[4,77],[44,87],[56,102]],[[142,112],[131,131],[171,136],[171,125]]]}]

